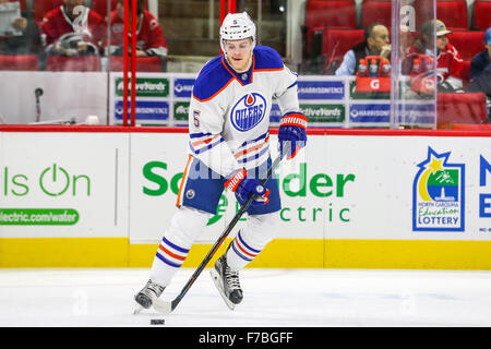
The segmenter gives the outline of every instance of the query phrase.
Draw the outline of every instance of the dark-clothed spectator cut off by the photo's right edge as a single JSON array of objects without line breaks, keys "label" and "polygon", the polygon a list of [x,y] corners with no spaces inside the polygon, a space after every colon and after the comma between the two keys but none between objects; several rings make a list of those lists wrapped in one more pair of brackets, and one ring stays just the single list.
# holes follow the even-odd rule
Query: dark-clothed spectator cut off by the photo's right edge
[{"label": "dark-clothed spectator cut off by the photo's right edge", "polygon": [[483,92],[491,99],[491,27],[484,33],[484,47],[470,61],[470,91]]}]

